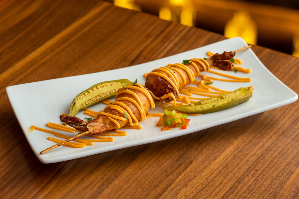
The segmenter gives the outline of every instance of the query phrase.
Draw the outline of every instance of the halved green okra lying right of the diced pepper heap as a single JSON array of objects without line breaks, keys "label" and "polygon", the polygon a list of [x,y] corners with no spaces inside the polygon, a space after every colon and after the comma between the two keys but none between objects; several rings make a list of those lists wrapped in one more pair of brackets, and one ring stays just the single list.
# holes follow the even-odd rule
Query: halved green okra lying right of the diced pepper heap
[{"label": "halved green okra lying right of the diced pepper heap", "polygon": [[193,114],[221,111],[249,100],[253,90],[253,86],[241,87],[233,92],[193,102],[191,104],[163,107],[163,109]]}]

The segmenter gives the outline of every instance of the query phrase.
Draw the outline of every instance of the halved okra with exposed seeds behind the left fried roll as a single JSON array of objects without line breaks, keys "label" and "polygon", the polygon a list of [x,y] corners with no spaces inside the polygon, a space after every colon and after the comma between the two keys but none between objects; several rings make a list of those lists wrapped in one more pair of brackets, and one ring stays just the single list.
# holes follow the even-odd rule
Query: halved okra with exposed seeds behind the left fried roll
[{"label": "halved okra with exposed seeds behind the left fried roll", "polygon": [[133,82],[127,79],[103,81],[98,84],[94,84],[92,87],[81,92],[74,98],[68,115],[75,116],[80,110],[114,97],[119,88],[132,84]]}]

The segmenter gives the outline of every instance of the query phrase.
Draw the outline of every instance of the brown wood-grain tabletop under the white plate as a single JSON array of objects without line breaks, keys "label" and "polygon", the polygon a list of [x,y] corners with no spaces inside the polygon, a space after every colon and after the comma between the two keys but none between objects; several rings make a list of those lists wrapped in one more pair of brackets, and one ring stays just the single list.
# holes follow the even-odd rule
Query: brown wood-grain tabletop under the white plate
[{"label": "brown wood-grain tabletop under the white plate", "polygon": [[[144,63],[223,36],[96,0],[1,1],[0,24],[0,198],[299,198],[298,101],[179,138],[43,164],[5,92]],[[299,93],[298,58],[252,49]]]}]

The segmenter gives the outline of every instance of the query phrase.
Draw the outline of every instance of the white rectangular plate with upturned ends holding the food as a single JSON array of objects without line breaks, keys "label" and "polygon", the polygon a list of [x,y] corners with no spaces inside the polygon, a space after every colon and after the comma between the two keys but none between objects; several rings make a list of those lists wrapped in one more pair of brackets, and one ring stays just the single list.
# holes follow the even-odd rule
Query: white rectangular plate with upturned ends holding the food
[{"label": "white rectangular plate with upturned ends holding the food", "polygon": [[[214,81],[213,86],[230,91],[236,90],[239,87],[254,86],[255,90],[252,98],[231,109],[198,116],[188,116],[190,123],[185,130],[175,128],[173,130],[161,131],[159,127],[155,127],[158,118],[153,117],[140,123],[142,126],[141,130],[126,129],[128,135],[114,137],[114,142],[94,143],[94,146],[83,148],[60,146],[43,155],[40,155],[42,150],[55,144],[46,139],[51,135],[38,130],[28,132],[28,129],[32,125],[48,129],[48,127],[45,127],[47,122],[61,124],[59,115],[61,113],[68,113],[69,106],[74,97],[99,82],[123,78],[134,82],[138,78],[138,83],[144,84],[144,73],[150,72],[155,68],[166,66],[169,63],[181,63],[184,59],[204,58],[207,57],[207,51],[222,53],[223,51],[234,51],[244,46],[247,46],[247,44],[242,38],[231,38],[144,64],[86,75],[19,84],[7,87],[6,91],[16,118],[37,158],[42,163],[66,161],[185,135],[296,101],[298,95],[269,72],[253,51],[248,49],[237,53],[235,58],[241,59],[243,61],[242,67],[250,68],[252,72],[249,74],[238,72],[236,75],[250,77],[252,81],[244,83]],[[200,79],[199,77],[197,78]],[[103,108],[103,104],[90,107],[90,109],[95,111],[102,110]],[[163,110],[160,106],[156,106],[150,112],[163,112]],[[77,116],[83,119],[84,117],[88,117],[83,115],[82,112],[79,112]],[[57,132],[60,131],[57,130]],[[74,133],[60,133],[67,136],[74,136]]]}]

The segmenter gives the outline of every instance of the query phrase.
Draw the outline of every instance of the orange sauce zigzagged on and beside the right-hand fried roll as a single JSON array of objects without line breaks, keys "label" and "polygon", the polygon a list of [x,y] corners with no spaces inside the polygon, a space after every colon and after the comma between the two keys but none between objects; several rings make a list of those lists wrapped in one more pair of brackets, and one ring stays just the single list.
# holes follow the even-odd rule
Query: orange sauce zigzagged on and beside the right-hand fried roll
[{"label": "orange sauce zigzagged on and beside the right-hand fried roll", "polygon": [[[208,51],[207,55],[211,57],[211,56],[214,55],[214,53]],[[179,73],[180,71],[178,70],[178,68],[180,68],[180,69],[184,68],[184,71],[188,74],[188,78],[191,81],[190,85],[195,84],[196,86],[190,86],[189,85],[189,86],[180,88],[179,92],[177,92],[178,97],[176,99],[174,99],[174,97],[172,97],[174,99],[174,102],[170,102],[169,103],[170,105],[189,104],[189,103],[195,102],[194,100],[202,100],[202,99],[205,99],[205,97],[213,97],[213,96],[217,96],[217,95],[221,95],[221,94],[230,92],[230,91],[221,90],[219,88],[211,86],[210,84],[213,83],[213,80],[228,81],[228,82],[250,82],[251,81],[251,78],[243,78],[243,77],[238,77],[238,76],[234,76],[234,75],[228,75],[228,74],[225,74],[223,72],[217,72],[217,71],[214,71],[214,70],[210,70],[210,66],[208,65],[208,62],[205,59],[193,58],[193,59],[190,59],[190,61],[191,61],[191,64],[193,65],[193,67],[195,67],[195,69],[197,71],[196,76],[200,76],[202,78],[201,81],[195,80],[195,74],[191,71],[191,69],[189,67],[187,67],[184,64],[168,64],[167,67],[171,70],[167,70],[167,72],[166,72],[165,67],[161,67],[161,68],[153,70],[151,73],[148,73],[148,74],[145,73],[144,77],[146,77],[147,75],[150,75],[150,74],[158,75],[158,76],[164,78],[165,80],[167,80],[170,83],[171,86],[174,87],[174,85],[175,85],[176,87],[174,87],[174,88],[177,92],[178,88],[179,88],[179,82],[176,78],[176,75],[174,75],[174,72],[177,72],[181,76],[181,78],[183,79],[184,83],[186,84],[186,79],[184,78],[184,75]],[[211,77],[211,76],[208,76],[208,75],[200,74],[199,73],[200,72],[199,68],[196,67],[196,64],[194,63],[195,61],[197,63],[199,63],[204,68],[204,70],[206,72],[210,72],[210,73],[212,73],[214,75],[218,75],[220,77]],[[240,59],[234,58],[234,64],[242,64],[242,63],[243,62]],[[179,67],[176,68],[176,66],[179,66]],[[244,73],[250,73],[251,72],[251,69],[245,69],[245,68],[242,68],[242,67],[239,67],[239,66],[233,66],[233,68],[236,69],[237,72],[244,72]],[[214,68],[214,69],[217,69],[217,68]],[[219,70],[219,69],[217,69],[217,70]],[[170,78],[168,78],[167,75],[164,75],[164,74],[161,74],[161,73],[158,73],[158,72],[155,72],[155,71],[163,71]],[[221,78],[221,77],[225,77],[225,78]],[[172,82],[170,79],[173,79],[174,81]],[[162,99],[162,98],[156,97],[155,95],[153,95],[153,93],[151,93],[151,94],[152,94],[153,98],[155,98],[157,100]],[[183,94],[183,95],[186,95],[186,96],[183,96],[183,95],[180,95],[180,94]],[[193,94],[201,95],[201,96],[205,96],[205,97],[193,97],[192,96]],[[169,96],[167,96],[167,97],[169,97]],[[163,99],[165,99],[167,97],[164,97]],[[176,101],[181,102],[181,103],[176,103]],[[162,105],[162,106],[164,106],[164,105]]]}]

